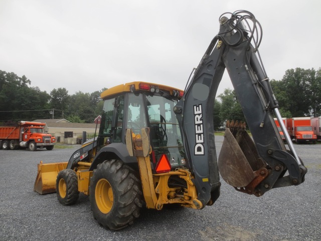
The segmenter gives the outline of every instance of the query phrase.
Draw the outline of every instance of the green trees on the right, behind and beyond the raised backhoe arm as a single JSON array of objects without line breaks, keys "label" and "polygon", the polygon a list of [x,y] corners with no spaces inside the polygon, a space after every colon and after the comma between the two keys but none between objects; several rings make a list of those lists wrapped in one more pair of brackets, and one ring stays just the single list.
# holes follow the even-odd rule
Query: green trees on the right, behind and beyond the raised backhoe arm
[{"label": "green trees on the right, behind and beyond the raised backhoe arm", "polygon": [[[270,80],[282,117],[321,115],[321,68],[288,69],[281,80]],[[234,90],[225,89],[214,104],[214,127],[219,129],[227,119],[245,121]]]}]

